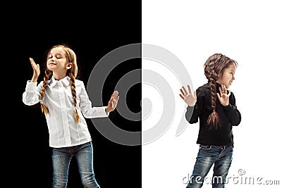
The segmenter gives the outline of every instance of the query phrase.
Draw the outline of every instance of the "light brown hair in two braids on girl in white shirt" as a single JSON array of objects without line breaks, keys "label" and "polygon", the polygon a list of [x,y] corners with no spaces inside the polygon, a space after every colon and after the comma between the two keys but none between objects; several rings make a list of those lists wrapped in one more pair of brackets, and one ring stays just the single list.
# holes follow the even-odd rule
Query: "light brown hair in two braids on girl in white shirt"
[{"label": "light brown hair in two braids on girl in white shirt", "polygon": [[[76,108],[77,96],[76,96],[76,90],[75,90],[75,77],[77,77],[78,75],[78,63],[76,61],[76,55],[75,55],[75,52],[71,48],[69,48],[66,44],[59,44],[59,45],[55,45],[51,47],[51,49],[54,49],[54,48],[62,48],[66,52],[67,62],[72,63],[72,66],[70,69],[67,70],[66,75],[71,78],[70,82],[71,82],[71,93],[73,94],[75,122],[79,123],[80,117],[78,115],[78,109]],[[51,52],[51,49],[49,49],[48,51],[47,60]],[[42,109],[42,113],[44,113],[44,115],[47,115],[49,113],[49,108],[42,101],[44,98],[44,94],[46,92],[49,77],[53,75],[53,72],[46,67],[44,73],[45,75],[43,78],[42,90],[40,92],[40,107]]]}]

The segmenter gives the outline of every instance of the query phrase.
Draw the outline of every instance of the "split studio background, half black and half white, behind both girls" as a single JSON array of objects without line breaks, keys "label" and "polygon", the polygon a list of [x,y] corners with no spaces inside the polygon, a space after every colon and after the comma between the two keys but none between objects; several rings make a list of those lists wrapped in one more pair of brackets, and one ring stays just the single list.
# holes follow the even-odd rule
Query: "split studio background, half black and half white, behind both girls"
[{"label": "split studio background, half black and half white, behind both girls", "polygon": [[[231,89],[243,119],[234,128],[235,151],[229,175],[240,177],[238,171],[243,169],[244,178],[262,177],[264,184],[232,183],[228,187],[279,187],[266,185],[264,180],[282,183],[278,154],[282,105],[279,1],[24,1],[2,8],[6,10],[1,13],[3,184],[51,186],[47,126],[39,106],[25,106],[21,96],[26,81],[32,77],[28,58],[42,63],[46,50],[61,42],[70,44],[77,52],[81,80],[85,82],[100,58],[126,44],[142,42],[171,51],[187,68],[194,89],[206,82],[202,65],[208,56],[221,52],[234,58],[239,67]],[[122,73],[141,68],[141,61],[135,59],[122,65],[111,75],[114,82]],[[198,125],[188,125],[176,137],[185,109],[178,97],[180,84],[173,74],[158,66],[156,62],[142,61],[143,69],[168,78],[176,100],[175,119],[159,139],[145,146],[115,144],[99,134],[88,120],[94,140],[95,173],[102,188],[185,187],[183,178],[192,173]],[[109,87],[103,91],[105,105],[113,90],[112,83],[107,84]],[[141,91],[141,84],[128,92],[128,106],[140,111],[140,101],[146,96],[152,99],[156,116],[149,117],[141,127],[140,122],[128,122],[113,113],[125,130],[149,129],[161,114],[161,97],[149,97],[148,92],[153,89],[145,87],[147,92]],[[68,187],[81,187],[75,161],[72,163]]]}]

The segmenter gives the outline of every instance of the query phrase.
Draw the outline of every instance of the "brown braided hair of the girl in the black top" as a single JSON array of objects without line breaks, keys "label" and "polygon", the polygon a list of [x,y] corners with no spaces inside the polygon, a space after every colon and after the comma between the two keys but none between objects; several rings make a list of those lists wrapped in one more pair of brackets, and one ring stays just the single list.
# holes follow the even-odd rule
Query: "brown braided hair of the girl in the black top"
[{"label": "brown braided hair of the girl in the black top", "polygon": [[204,75],[207,77],[209,87],[211,88],[211,105],[213,111],[207,119],[210,129],[217,129],[221,126],[219,123],[219,115],[216,112],[216,81],[219,79],[220,74],[223,73],[223,70],[228,68],[232,63],[237,67],[238,63],[236,61],[223,54],[209,56],[204,63]]}]

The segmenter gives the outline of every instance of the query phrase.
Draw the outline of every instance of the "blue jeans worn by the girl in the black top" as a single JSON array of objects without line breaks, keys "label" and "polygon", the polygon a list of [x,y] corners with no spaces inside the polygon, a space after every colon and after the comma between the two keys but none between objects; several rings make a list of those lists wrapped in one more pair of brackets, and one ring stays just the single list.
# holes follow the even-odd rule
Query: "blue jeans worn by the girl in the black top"
[{"label": "blue jeans worn by the girl in the black top", "polygon": [[212,183],[213,188],[224,188],[224,182],[228,170],[231,166],[233,155],[233,146],[203,146],[197,154],[194,170],[188,182],[187,188],[202,187],[205,177],[214,165],[214,173],[212,179],[209,178],[208,183]]}]

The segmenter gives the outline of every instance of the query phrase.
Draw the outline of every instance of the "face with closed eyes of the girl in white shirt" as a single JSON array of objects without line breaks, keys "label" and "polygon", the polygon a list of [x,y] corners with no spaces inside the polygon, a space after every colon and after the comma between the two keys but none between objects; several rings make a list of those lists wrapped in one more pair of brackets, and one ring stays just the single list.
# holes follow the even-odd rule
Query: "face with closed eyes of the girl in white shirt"
[{"label": "face with closed eyes of the girl in white shirt", "polygon": [[66,71],[71,68],[71,63],[66,60],[66,51],[61,47],[51,49],[47,60],[47,68],[53,73],[66,75]]}]

